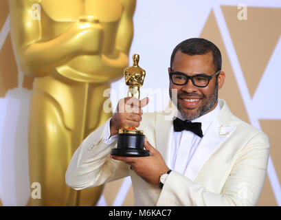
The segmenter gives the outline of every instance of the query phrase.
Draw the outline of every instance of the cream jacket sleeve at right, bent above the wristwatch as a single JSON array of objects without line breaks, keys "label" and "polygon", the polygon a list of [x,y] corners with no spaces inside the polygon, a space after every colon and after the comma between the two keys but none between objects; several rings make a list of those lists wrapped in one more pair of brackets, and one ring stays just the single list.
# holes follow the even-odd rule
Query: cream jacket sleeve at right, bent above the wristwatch
[{"label": "cream jacket sleeve at right, bent above the wristwatch", "polygon": [[267,173],[269,140],[258,133],[240,150],[220,193],[210,192],[172,171],[161,191],[157,206],[255,206]]}]

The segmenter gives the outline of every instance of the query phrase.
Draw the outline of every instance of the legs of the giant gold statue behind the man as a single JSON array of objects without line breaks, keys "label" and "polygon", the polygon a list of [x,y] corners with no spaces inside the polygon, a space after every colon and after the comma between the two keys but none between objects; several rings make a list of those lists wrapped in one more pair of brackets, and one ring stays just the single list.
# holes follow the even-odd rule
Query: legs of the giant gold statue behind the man
[{"label": "legs of the giant gold statue behind the man", "polygon": [[[43,84],[52,85],[53,90],[48,91]],[[31,197],[28,205],[93,206],[98,201],[102,186],[72,190],[65,184],[65,172],[82,140],[111,117],[102,109],[102,95],[109,87],[109,83],[64,83],[49,76],[36,78],[30,106],[30,184],[41,184],[41,199]],[[76,99],[71,94],[76,94]],[[57,101],[62,95],[64,109]],[[71,122],[67,111],[75,113],[76,120]]]}]

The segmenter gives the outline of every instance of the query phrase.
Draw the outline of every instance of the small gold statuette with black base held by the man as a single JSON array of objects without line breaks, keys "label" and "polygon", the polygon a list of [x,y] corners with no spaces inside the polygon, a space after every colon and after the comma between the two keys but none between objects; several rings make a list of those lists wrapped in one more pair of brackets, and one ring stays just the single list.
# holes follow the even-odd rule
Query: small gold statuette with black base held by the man
[{"label": "small gold statuette with black base held by the man", "polygon": [[[128,97],[139,99],[139,87],[144,84],[146,72],[139,67],[139,55],[133,55],[133,66],[124,69],[126,85],[128,85]],[[144,131],[134,127],[120,129],[117,135],[117,148],[111,150],[112,155],[126,157],[146,157],[149,151],[144,150]]]}]

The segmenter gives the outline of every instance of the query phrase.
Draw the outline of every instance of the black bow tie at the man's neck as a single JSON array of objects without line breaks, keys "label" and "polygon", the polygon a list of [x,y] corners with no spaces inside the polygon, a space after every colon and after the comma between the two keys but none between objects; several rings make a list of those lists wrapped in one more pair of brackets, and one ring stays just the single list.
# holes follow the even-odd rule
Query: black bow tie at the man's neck
[{"label": "black bow tie at the man's neck", "polygon": [[179,118],[176,118],[174,120],[174,130],[177,131],[192,131],[196,135],[199,135],[199,137],[203,137],[202,129],[201,129],[201,122],[187,122],[182,121]]}]

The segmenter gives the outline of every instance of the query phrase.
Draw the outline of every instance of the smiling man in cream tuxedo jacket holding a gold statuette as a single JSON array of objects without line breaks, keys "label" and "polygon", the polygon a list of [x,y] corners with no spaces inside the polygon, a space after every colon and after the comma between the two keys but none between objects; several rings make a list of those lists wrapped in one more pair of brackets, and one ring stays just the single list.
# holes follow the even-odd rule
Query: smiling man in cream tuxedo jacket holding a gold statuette
[{"label": "smiling man in cream tuxedo jacket holding a gold statuette", "polygon": [[[147,98],[134,104],[138,112],[119,113],[117,107],[74,153],[67,185],[80,190],[131,175],[137,206],[254,206],[270,144],[218,100],[225,80],[221,52],[205,39],[188,39],[175,47],[168,72],[170,91],[177,89],[178,118],[142,114]],[[118,129],[139,125],[150,156],[110,156]]]}]

